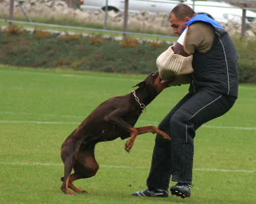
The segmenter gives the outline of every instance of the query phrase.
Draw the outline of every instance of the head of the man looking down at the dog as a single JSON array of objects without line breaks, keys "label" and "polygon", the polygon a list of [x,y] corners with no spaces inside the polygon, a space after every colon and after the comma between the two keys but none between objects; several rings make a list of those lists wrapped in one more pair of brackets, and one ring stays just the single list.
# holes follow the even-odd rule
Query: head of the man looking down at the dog
[{"label": "head of the man looking down at the dog", "polygon": [[185,23],[195,15],[195,11],[185,4],[179,4],[174,7],[169,14],[169,22],[170,26],[173,28],[173,33],[180,37]]}]

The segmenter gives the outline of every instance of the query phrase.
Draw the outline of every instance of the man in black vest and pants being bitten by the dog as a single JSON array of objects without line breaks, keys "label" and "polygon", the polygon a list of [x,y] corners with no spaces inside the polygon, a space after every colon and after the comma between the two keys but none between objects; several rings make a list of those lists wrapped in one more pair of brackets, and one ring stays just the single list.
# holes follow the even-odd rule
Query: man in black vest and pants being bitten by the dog
[{"label": "man in black vest and pants being bitten by the dog", "polygon": [[[159,124],[159,129],[172,140],[166,142],[156,136],[146,183],[148,188],[133,193],[135,196],[167,197],[172,175],[172,181],[177,185],[170,188],[171,193],[182,198],[190,197],[195,131],[205,122],[225,114],[238,97],[238,55],[223,27],[206,14],[196,14],[183,4],[170,12],[169,22],[173,33],[178,36],[186,30],[183,49],[188,58],[193,55],[191,67],[194,72],[173,74],[177,79],[191,77],[189,93]],[[170,63],[175,60],[172,57]],[[160,65],[158,63],[159,72],[165,68]],[[176,65],[172,66],[173,69]],[[170,85],[178,84],[174,81]]]}]

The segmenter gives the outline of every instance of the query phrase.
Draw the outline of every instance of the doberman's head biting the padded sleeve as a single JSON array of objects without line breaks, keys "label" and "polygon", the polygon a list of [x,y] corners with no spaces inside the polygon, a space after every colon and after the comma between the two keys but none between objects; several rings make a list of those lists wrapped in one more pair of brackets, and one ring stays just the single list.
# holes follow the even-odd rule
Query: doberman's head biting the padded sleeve
[{"label": "doberman's head biting the padded sleeve", "polygon": [[159,72],[153,72],[150,75],[146,77],[146,79],[143,82],[140,82],[136,84],[133,87],[140,87],[140,88],[154,88],[155,91],[160,93],[164,88],[168,87],[168,85],[174,81],[174,77],[170,78],[168,80],[162,81],[159,75]]}]

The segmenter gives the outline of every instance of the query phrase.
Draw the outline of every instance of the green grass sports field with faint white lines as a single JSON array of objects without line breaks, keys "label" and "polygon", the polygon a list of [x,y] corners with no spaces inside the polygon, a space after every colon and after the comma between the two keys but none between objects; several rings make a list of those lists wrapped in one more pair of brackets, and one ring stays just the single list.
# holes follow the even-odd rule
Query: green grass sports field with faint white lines
[{"label": "green grass sports field with faint white lines", "polygon": [[[90,193],[62,193],[62,142],[102,101],[145,77],[0,65],[0,203],[254,203],[256,85],[240,85],[234,107],[197,131],[190,199],[131,196],[146,188],[152,134],[137,137],[130,154],[126,140],[97,144],[97,174],[74,183]],[[187,89],[165,89],[136,126],[157,126]]]}]

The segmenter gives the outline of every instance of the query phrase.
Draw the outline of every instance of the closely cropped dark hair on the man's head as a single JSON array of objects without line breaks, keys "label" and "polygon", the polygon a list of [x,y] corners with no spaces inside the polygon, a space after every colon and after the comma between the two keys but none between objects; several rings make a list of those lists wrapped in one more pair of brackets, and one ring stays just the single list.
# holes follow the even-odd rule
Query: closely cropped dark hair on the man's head
[{"label": "closely cropped dark hair on the man's head", "polygon": [[189,17],[189,18],[193,17],[196,14],[196,12],[185,4],[178,4],[170,12],[169,18],[171,14],[174,14],[176,18],[180,20],[184,20],[185,17]]}]

